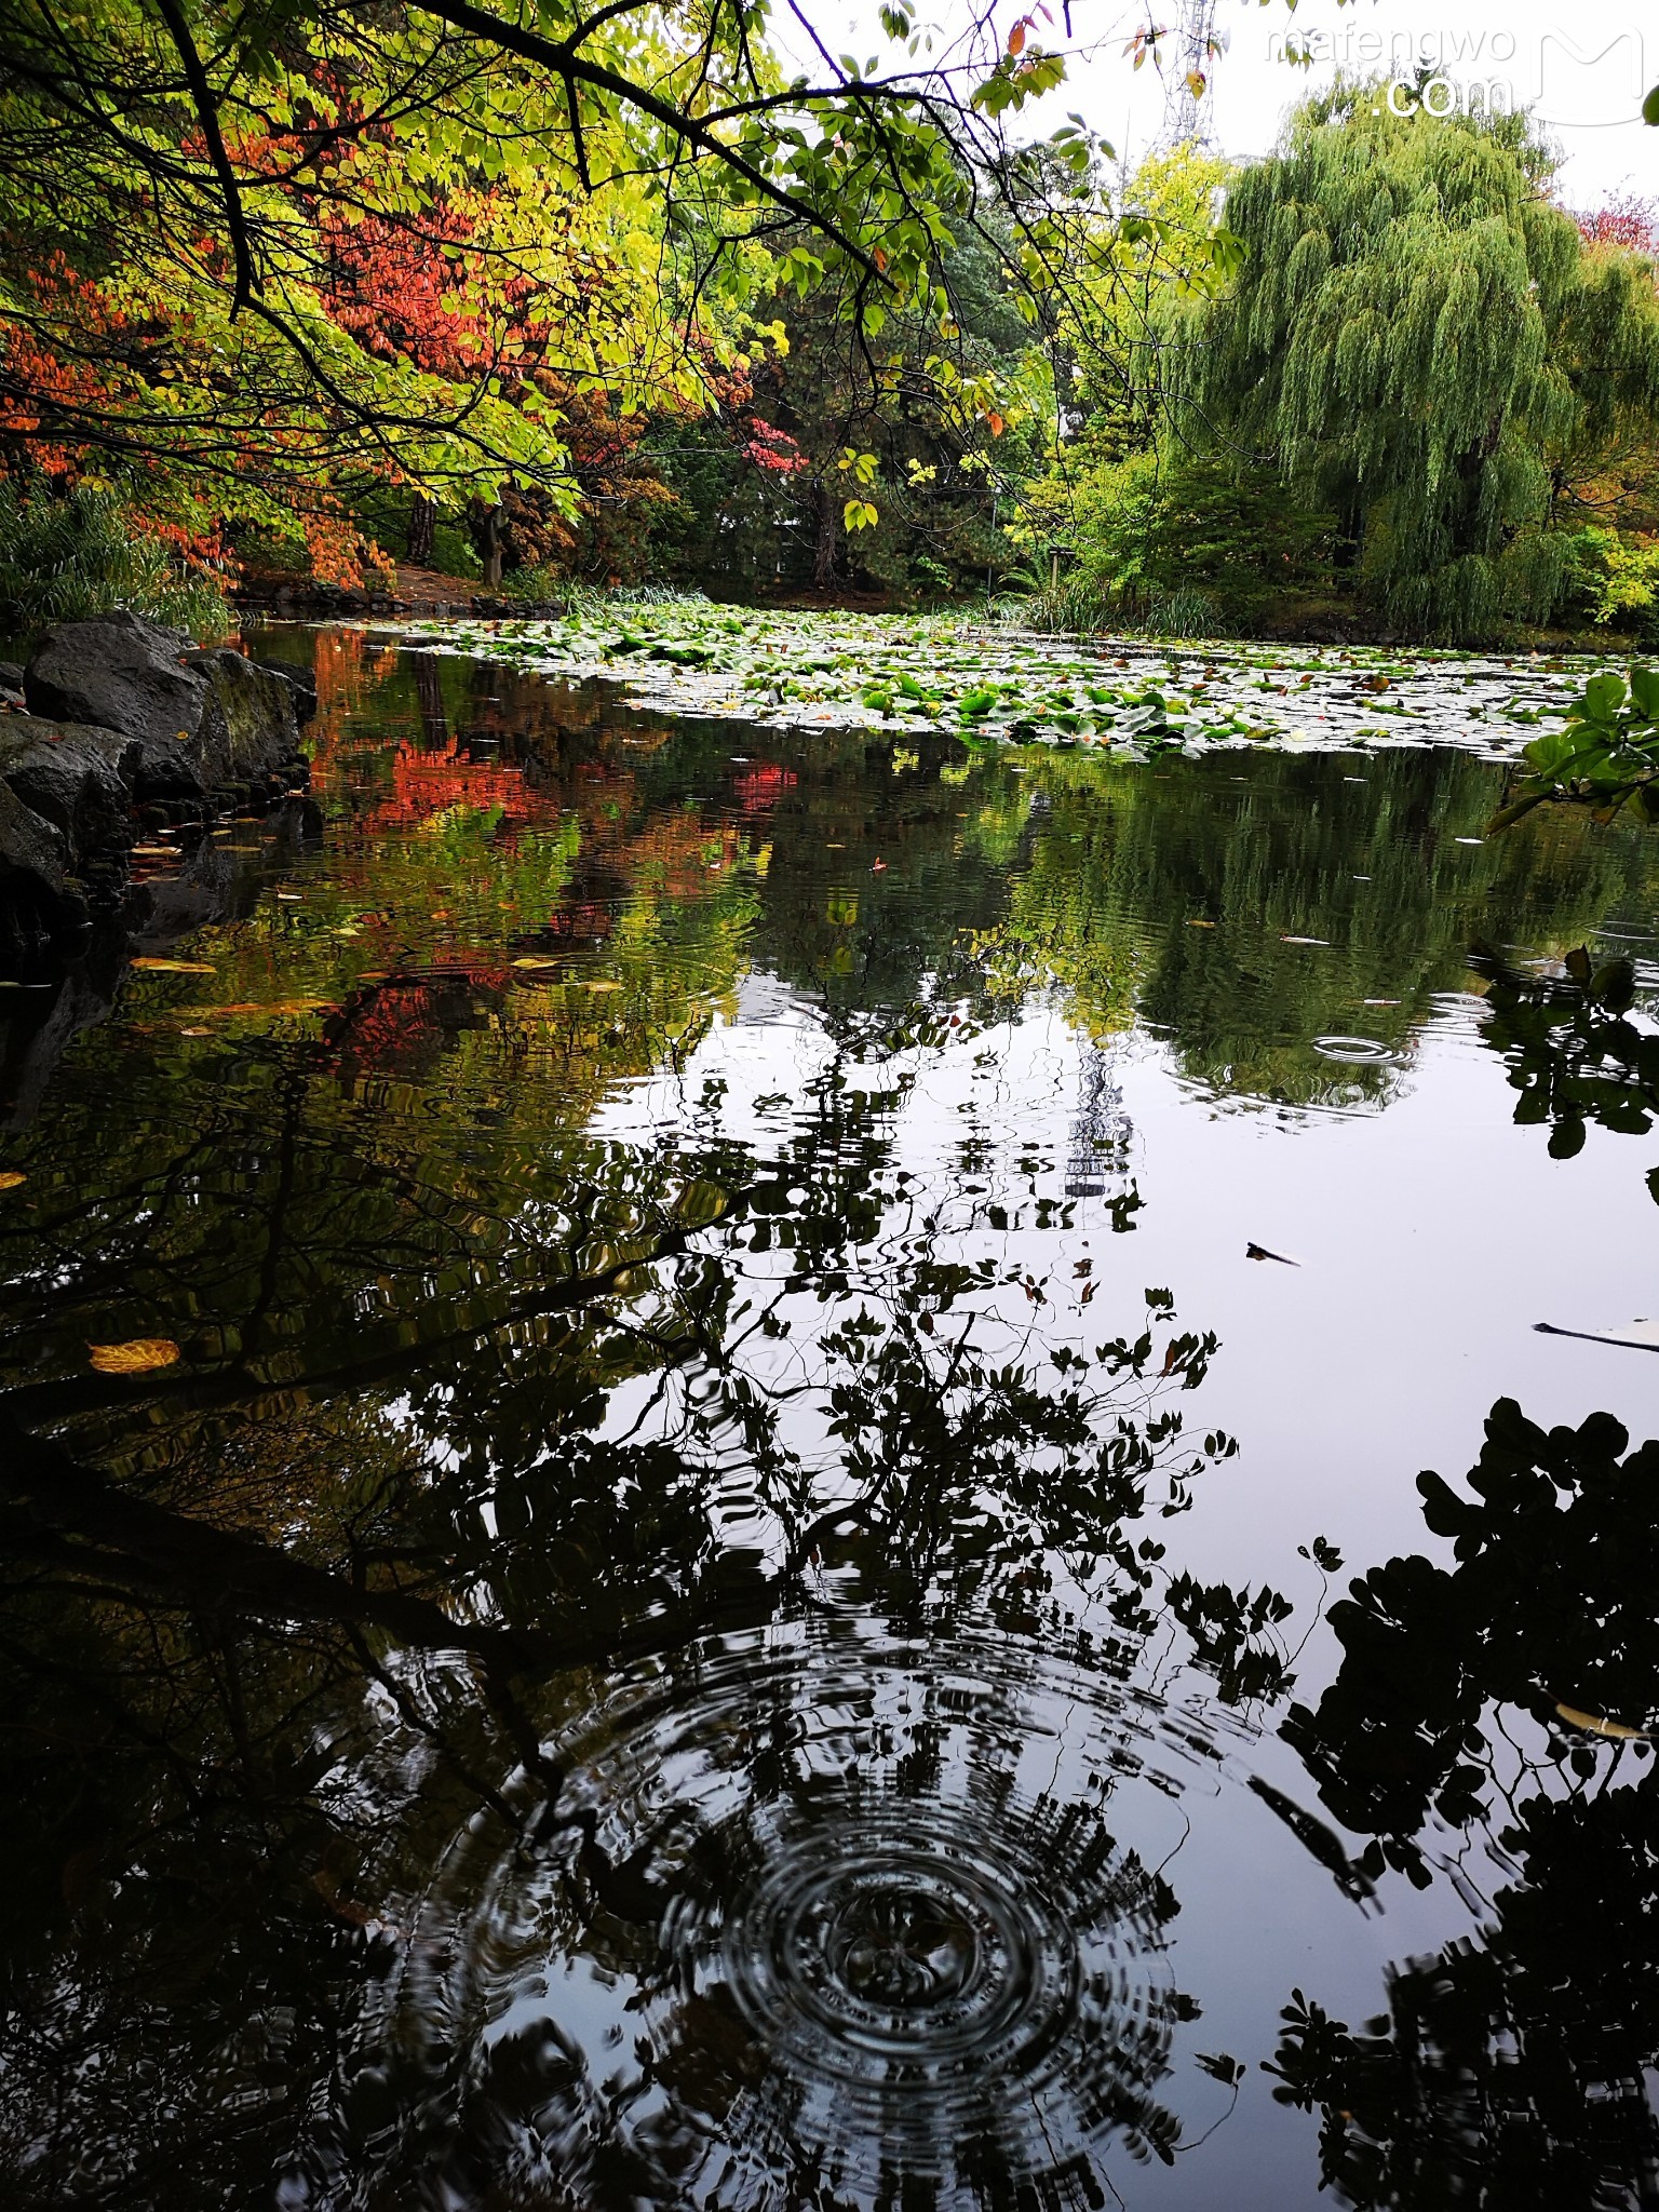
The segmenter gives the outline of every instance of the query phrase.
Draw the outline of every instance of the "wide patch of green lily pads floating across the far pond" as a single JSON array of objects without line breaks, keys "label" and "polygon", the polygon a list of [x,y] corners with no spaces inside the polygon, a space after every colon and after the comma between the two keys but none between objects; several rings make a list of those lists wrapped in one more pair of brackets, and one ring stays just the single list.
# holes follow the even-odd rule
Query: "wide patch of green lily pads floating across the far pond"
[{"label": "wide patch of green lily pads floating across the far pond", "polygon": [[560,679],[641,708],[770,728],[945,732],[969,745],[1115,757],[1217,748],[1460,745],[1509,761],[1568,712],[1586,657],[1055,637],[982,615],[582,602],[560,619],[414,622],[407,644]]}]

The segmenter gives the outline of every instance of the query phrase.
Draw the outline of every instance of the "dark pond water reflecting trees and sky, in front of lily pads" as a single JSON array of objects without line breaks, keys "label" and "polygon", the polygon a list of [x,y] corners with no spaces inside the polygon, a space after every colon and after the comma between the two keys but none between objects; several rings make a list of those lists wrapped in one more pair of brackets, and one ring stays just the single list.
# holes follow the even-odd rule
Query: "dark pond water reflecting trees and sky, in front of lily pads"
[{"label": "dark pond water reflecting trees and sky, in front of lily pads", "polygon": [[1659,2201],[1659,845],[265,650],[0,993],[7,2201]]}]

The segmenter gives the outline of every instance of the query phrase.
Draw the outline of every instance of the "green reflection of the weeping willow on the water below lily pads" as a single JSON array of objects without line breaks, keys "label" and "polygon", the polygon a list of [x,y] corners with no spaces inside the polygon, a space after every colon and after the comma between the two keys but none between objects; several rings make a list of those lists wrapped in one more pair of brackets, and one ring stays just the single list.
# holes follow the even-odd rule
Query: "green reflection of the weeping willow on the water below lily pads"
[{"label": "green reflection of the weeping willow on the water below lily pads", "polygon": [[1462,754],[1057,757],[1024,781],[1029,867],[991,949],[1009,987],[1053,975],[1097,1035],[1137,1004],[1199,1082],[1296,1104],[1387,1079],[1338,1075],[1316,1035],[1398,1042],[1460,984],[1471,938],[1582,931],[1644,883],[1639,834],[1584,821],[1458,845],[1491,810],[1491,772]]}]

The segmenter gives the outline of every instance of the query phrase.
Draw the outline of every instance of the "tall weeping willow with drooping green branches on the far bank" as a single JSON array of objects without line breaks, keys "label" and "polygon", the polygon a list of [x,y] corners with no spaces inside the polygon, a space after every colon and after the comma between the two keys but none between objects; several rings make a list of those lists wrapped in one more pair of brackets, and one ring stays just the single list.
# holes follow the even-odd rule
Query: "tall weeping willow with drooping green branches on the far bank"
[{"label": "tall weeping willow with drooping green branches on the far bank", "polygon": [[1411,635],[1544,622],[1608,456],[1659,425],[1652,263],[1593,250],[1517,115],[1303,106],[1239,177],[1239,283],[1201,310],[1188,436],[1270,462],[1340,524]]}]

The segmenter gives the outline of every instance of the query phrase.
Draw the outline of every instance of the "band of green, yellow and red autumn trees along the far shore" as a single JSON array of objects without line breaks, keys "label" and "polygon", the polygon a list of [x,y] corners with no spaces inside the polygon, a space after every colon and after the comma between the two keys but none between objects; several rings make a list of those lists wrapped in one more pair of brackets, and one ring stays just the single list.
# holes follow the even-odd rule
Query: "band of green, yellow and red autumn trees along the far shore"
[{"label": "band of green, yellow and red autumn trees along the far shore", "polygon": [[[659,588],[1181,644],[1659,644],[1659,217],[1566,208],[1528,117],[1338,80],[1265,161],[1194,137],[1126,173],[1075,117],[1029,135],[1064,77],[1035,18],[933,62],[894,7],[891,71],[810,86],[721,9],[701,44],[653,33],[666,75],[622,31],[611,66],[628,0],[568,49],[604,77],[577,115],[544,29],[431,13],[319,9],[257,69],[228,27],[188,104],[148,33],[66,60],[42,18],[55,60],[0,106],[2,630]],[[148,119],[77,186],[93,265],[40,148],[106,77]]]}]

